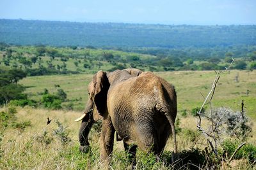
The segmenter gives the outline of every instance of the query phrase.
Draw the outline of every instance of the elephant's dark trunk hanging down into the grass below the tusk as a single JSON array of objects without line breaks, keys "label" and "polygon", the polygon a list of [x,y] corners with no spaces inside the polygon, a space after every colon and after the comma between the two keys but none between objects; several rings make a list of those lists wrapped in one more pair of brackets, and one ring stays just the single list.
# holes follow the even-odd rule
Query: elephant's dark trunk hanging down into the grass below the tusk
[{"label": "elephant's dark trunk hanging down into the grass below the tusk", "polygon": [[80,143],[79,150],[81,152],[88,152],[88,148],[90,146],[89,141],[88,141],[88,136],[89,136],[89,132],[92,128],[93,123],[94,123],[93,114],[92,114],[92,111],[90,111],[83,118],[80,130],[79,130],[79,136],[78,136],[79,143]]}]

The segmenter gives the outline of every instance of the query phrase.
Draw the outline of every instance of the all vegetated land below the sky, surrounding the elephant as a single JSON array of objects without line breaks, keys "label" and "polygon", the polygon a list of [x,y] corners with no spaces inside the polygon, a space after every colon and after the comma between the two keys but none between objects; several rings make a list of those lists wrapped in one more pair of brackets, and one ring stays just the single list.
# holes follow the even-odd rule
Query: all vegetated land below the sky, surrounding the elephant
[{"label": "all vegetated land below the sky, surrounding the elephant", "polygon": [[[154,71],[177,91],[180,159],[172,164],[170,139],[159,158],[139,151],[137,169],[255,169],[255,25],[0,20],[0,40],[0,169],[107,169],[100,123],[80,153],[74,120],[93,74],[127,67]],[[200,109],[214,70],[233,59]],[[131,169],[122,142],[112,157],[111,169]]]}]

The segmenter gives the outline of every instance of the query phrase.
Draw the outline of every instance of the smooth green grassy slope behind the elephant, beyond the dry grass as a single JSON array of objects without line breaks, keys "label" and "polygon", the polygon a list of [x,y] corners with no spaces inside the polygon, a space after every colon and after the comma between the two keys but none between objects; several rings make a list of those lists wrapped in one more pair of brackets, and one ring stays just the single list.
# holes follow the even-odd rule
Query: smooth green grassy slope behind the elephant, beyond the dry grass
[{"label": "smooth green grassy slope behind the elephant, beyond the dry grass", "polygon": [[[204,102],[202,95],[207,96],[215,76],[214,71],[174,71],[156,74],[175,85],[179,113],[184,110],[189,113],[193,108],[202,105]],[[235,81],[237,75],[238,82]],[[87,100],[87,85],[92,80],[92,76],[92,74],[33,76],[24,78],[19,83],[28,87],[26,93],[36,100],[40,100],[41,97],[38,92],[43,92],[44,89],[56,92],[54,85],[60,85],[60,88],[67,92],[68,99],[74,101],[74,109],[81,111]],[[247,90],[249,90],[248,95]],[[232,70],[221,74],[213,105],[225,106],[236,111],[240,110],[242,100],[246,113],[256,120],[256,71]]]}]

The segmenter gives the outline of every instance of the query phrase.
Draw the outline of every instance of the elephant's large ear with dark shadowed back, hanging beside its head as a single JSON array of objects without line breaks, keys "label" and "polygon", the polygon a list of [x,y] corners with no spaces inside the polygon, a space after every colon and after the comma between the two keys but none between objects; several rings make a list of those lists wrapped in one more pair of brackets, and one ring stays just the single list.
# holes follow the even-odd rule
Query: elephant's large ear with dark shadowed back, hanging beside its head
[{"label": "elephant's large ear with dark shadowed back, hanging beside its head", "polygon": [[109,81],[106,72],[98,71],[94,92],[94,103],[100,115],[103,115],[107,106]]}]

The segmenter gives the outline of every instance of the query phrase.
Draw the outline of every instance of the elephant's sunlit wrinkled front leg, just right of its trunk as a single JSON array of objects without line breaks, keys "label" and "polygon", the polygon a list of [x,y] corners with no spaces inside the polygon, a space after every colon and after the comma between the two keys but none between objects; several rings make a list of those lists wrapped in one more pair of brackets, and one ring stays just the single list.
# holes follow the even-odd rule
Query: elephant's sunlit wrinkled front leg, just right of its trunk
[{"label": "elephant's sunlit wrinkled front leg, just right of its trunk", "polygon": [[100,135],[100,160],[105,162],[109,160],[109,156],[113,151],[115,129],[111,122],[111,118],[104,118],[102,121],[102,131]]}]

